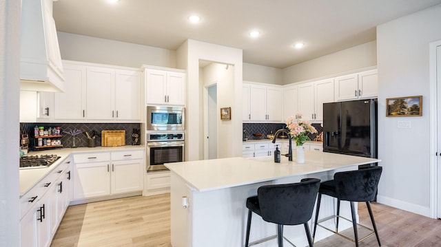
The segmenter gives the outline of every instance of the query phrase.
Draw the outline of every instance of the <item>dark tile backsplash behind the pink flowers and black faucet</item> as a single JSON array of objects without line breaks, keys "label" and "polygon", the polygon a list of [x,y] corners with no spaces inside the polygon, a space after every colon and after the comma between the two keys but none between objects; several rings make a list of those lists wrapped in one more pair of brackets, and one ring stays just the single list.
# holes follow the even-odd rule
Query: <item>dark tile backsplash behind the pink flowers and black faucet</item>
[{"label": "dark tile backsplash behind the pink flowers and black faucet", "polygon": [[[322,132],[322,125],[320,123],[311,124],[317,129],[317,134],[308,134],[310,140],[314,140],[317,135]],[[267,134],[276,133],[278,129],[284,129],[286,125],[284,123],[243,123],[243,129],[245,129],[245,135],[248,140],[260,140],[267,139]],[[253,136],[254,133],[263,133],[263,136]]]}]

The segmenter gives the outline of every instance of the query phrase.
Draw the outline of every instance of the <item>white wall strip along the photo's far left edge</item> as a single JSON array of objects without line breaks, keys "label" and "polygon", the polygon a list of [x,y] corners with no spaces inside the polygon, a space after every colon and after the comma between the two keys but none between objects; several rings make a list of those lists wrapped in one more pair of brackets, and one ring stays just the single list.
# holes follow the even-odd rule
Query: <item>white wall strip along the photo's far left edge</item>
[{"label": "white wall strip along the photo's far left edge", "polygon": [[0,0],[0,246],[20,246],[20,7]]}]

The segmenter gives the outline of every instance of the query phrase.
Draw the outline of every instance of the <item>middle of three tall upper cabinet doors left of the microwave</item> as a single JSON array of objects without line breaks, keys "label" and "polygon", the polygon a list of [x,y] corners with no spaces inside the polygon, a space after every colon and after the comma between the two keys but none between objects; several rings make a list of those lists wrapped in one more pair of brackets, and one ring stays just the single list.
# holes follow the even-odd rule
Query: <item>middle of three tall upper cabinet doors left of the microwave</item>
[{"label": "middle of three tall upper cabinet doors left of the microwave", "polygon": [[88,120],[110,120],[114,112],[115,70],[87,68],[86,116]]}]

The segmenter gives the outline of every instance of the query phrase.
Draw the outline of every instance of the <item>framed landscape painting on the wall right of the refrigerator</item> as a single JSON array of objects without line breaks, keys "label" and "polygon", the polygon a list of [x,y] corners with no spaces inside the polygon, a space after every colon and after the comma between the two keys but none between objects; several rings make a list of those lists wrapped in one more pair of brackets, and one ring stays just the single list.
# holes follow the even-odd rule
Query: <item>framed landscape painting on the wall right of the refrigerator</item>
[{"label": "framed landscape painting on the wall right of the refrigerator", "polygon": [[387,117],[422,116],[422,96],[407,96],[386,99]]}]

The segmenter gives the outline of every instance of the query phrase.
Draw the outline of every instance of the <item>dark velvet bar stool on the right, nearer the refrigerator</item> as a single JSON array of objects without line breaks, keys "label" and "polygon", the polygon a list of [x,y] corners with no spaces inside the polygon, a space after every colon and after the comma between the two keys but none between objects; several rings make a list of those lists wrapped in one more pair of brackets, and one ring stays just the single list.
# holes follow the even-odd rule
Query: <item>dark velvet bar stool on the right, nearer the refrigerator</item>
[{"label": "dark velvet bar stool on the right, nearer the refrigerator", "polygon": [[[380,244],[380,237],[378,237],[378,230],[375,224],[375,220],[373,219],[373,214],[371,210],[370,202],[374,200],[378,188],[378,182],[380,181],[380,176],[382,173],[382,167],[368,167],[359,169],[356,171],[344,171],[334,174],[334,180],[329,180],[326,182],[322,182],[320,184],[320,189],[318,190],[318,198],[317,198],[317,208],[316,208],[316,223],[314,224],[314,233],[312,234],[313,239],[316,237],[316,229],[317,226],[321,226],[327,230],[330,230],[337,235],[345,237],[345,239],[349,239],[356,243],[358,243],[367,237],[370,237],[375,233],[378,241],[378,246]],[[329,220],[329,217],[318,220],[318,212],[320,210],[320,201],[322,195],[329,195],[331,197],[337,198],[337,214],[334,215],[336,217],[336,229],[331,230],[325,226],[322,226],[320,223]],[[349,201],[351,204],[351,215],[352,215],[352,226],[353,226],[353,235],[354,239],[351,239],[345,235],[338,233],[338,219],[340,219],[340,201]],[[369,211],[369,216],[371,217],[371,222],[373,229],[367,228],[367,226],[363,226],[361,224],[357,224],[356,221],[356,210],[354,202],[366,202],[367,210]],[[334,218],[334,217],[331,217]],[[344,217],[341,217],[345,219]],[[367,228],[371,230],[371,233],[362,239],[358,239],[358,230],[357,225]]]}]

